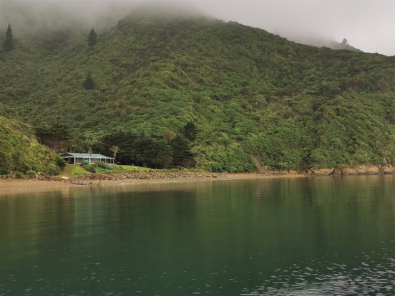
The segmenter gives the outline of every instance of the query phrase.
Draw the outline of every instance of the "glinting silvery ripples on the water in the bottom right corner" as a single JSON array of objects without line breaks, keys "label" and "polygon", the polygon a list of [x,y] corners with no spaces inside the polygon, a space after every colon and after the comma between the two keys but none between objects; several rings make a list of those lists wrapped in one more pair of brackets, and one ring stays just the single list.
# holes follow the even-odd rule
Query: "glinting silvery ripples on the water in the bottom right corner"
[{"label": "glinting silvery ripples on the water in the bottom right corner", "polygon": [[[284,269],[274,270],[270,280],[263,280],[252,291],[244,289],[242,296],[326,296],[326,295],[395,295],[395,259],[383,258],[375,264],[369,256],[363,256],[369,263],[361,262],[356,267],[344,263],[327,263],[324,259],[317,266],[292,264]],[[326,262],[326,263],[323,263]],[[327,270],[324,273],[323,270]]]}]

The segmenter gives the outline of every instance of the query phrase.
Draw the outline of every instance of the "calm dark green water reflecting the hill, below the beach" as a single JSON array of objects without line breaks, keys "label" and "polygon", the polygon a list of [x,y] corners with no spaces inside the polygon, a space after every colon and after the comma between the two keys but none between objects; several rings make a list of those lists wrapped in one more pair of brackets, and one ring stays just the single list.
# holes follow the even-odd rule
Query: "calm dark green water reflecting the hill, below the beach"
[{"label": "calm dark green water reflecting the hill, below the beach", "polygon": [[0,295],[395,295],[395,176],[0,191]]}]

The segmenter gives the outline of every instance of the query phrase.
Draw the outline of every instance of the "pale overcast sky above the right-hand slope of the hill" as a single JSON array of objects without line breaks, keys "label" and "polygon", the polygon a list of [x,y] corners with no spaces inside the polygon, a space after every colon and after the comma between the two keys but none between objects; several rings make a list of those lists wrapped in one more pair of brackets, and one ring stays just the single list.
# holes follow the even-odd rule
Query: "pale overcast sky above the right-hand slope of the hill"
[{"label": "pale overcast sky above the right-hand slope of the hill", "polygon": [[[57,1],[60,6],[70,7],[83,2],[48,1]],[[3,9],[6,5],[1,4],[4,2],[5,0],[0,0],[2,25],[7,21],[7,13]],[[122,2],[120,6],[133,1]],[[174,2],[180,6],[192,4],[215,18],[262,28],[291,40],[321,38],[341,42],[343,38],[347,38],[350,45],[362,51],[395,55],[395,0],[178,0],[173,1],[173,4]],[[107,9],[108,2],[100,3],[95,5],[97,11]],[[81,9],[82,7],[86,5],[81,6]],[[129,12],[122,10],[121,17]],[[11,20],[9,22],[12,23]]]}]

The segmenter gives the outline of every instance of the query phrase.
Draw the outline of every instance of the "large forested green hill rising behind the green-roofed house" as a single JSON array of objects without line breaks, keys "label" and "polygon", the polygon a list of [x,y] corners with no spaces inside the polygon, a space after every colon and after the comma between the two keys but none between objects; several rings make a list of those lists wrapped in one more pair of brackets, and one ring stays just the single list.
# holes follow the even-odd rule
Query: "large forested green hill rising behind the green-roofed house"
[{"label": "large forested green hill rising behind the green-roofed house", "polygon": [[158,11],[128,15],[94,45],[88,33],[14,35],[0,54],[0,115],[59,150],[118,145],[122,163],[152,167],[395,163],[395,57]]}]

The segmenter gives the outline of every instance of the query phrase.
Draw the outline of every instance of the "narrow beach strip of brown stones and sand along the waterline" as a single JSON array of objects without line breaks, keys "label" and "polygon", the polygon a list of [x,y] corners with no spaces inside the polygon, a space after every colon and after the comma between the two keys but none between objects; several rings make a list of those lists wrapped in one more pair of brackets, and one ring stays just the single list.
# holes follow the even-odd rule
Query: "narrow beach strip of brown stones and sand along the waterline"
[{"label": "narrow beach strip of brown stones and sand along the waterline", "polygon": [[57,177],[37,179],[2,179],[0,190],[29,188],[56,188],[74,186],[121,185],[157,182],[209,181],[259,179],[275,177],[338,176],[338,175],[379,175],[395,174],[394,166],[358,166],[347,169],[320,169],[300,173],[296,171],[265,171],[261,173],[205,173],[205,172],[127,172],[120,174],[90,174],[74,178]]}]

